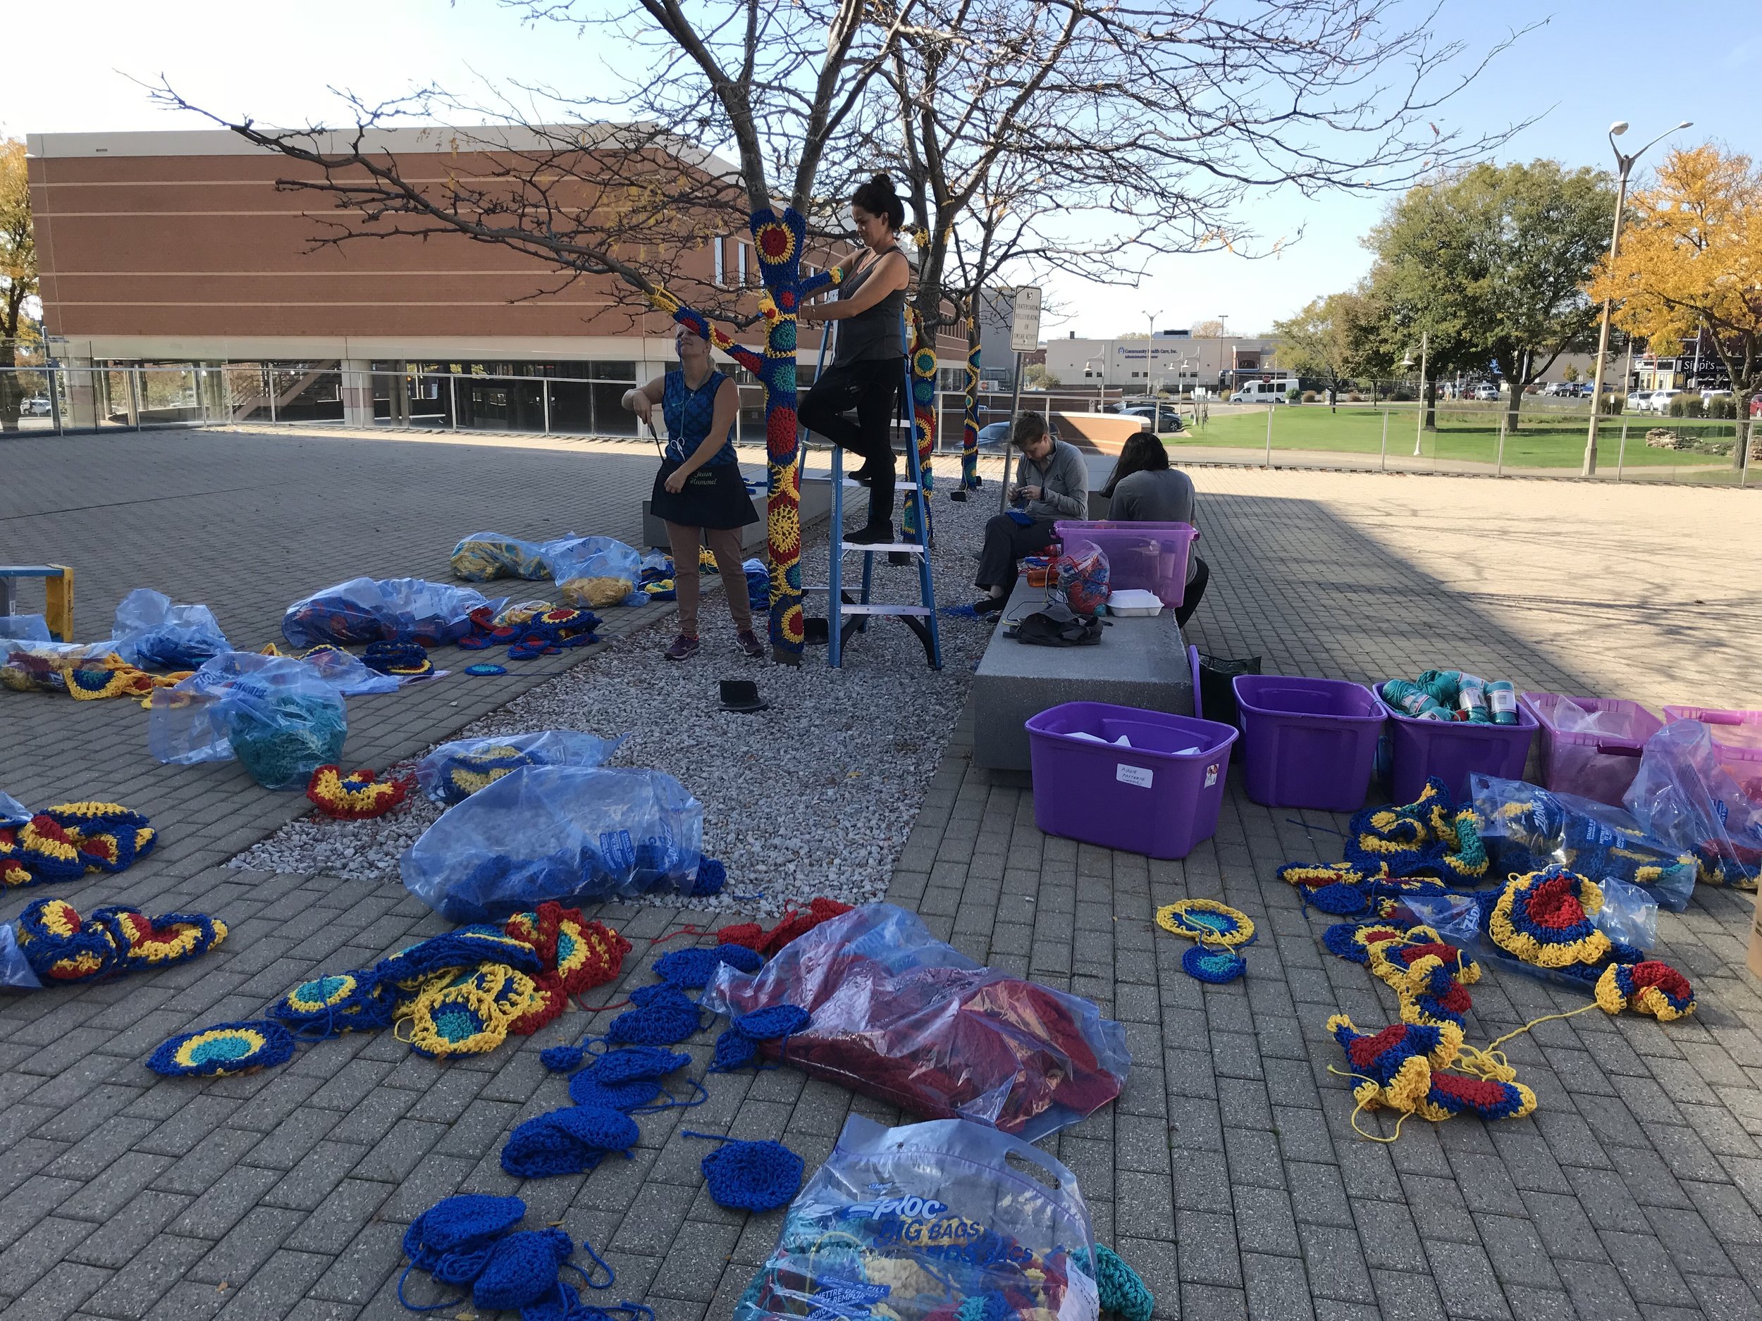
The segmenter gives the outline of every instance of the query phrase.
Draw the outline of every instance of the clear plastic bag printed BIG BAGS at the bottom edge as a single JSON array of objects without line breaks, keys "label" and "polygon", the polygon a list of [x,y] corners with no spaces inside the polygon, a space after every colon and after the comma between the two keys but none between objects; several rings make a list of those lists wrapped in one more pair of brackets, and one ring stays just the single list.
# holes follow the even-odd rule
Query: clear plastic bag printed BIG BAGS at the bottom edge
[{"label": "clear plastic bag printed BIG BAGS at the bottom edge", "polygon": [[959,1118],[851,1115],[733,1321],[1096,1321],[1091,1261],[1077,1178],[1040,1148]]}]

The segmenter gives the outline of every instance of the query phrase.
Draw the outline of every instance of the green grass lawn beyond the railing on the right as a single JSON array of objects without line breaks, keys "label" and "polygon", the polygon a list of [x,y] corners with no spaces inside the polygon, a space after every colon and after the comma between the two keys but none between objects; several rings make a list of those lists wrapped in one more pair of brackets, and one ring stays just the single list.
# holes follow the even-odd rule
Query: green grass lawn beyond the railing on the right
[{"label": "green grass lawn beyond the railing on the right", "polygon": [[[1499,412],[1489,405],[1478,412],[1438,412],[1438,430],[1425,432],[1420,440],[1422,458],[1466,460],[1492,463],[1499,449]],[[1413,461],[1413,439],[1418,417],[1413,405],[1388,410],[1388,456],[1394,461]],[[1584,458],[1584,428],[1588,416],[1542,412],[1524,414],[1519,430],[1505,439],[1507,469],[1577,469]],[[1709,439],[1730,439],[1730,421],[1695,421],[1684,417],[1655,417],[1651,414],[1618,416],[1598,428],[1598,463],[1614,469],[1621,446],[1621,426],[1628,426],[1625,467],[1730,467],[1729,454],[1700,454],[1681,449],[1653,449],[1646,432],[1670,426],[1683,432],[1704,432]],[[1212,414],[1203,430],[1188,430],[1165,437],[1172,449],[1184,446],[1223,446],[1232,449],[1263,449],[1267,444],[1265,409],[1230,416]],[[1276,451],[1332,451],[1380,454],[1383,444],[1383,409],[1369,405],[1343,405],[1330,412],[1323,405],[1277,405],[1272,416],[1272,447]]]}]

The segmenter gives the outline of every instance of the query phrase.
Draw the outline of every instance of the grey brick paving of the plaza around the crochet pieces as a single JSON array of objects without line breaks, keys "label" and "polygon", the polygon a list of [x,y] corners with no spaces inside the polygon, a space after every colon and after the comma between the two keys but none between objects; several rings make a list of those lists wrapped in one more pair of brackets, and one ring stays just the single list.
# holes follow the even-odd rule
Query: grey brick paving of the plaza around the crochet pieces
[{"label": "grey brick paving of the plaza around the crochet pieces", "polygon": [[[654,453],[160,433],[5,440],[0,461],[0,560],[74,564],[83,639],[107,634],[118,597],[150,585],[208,602],[236,645],[261,646],[282,608],[317,587],[444,579],[463,532],[634,539]],[[1762,705],[1753,495],[1253,469],[1195,479],[1212,565],[1191,629],[1202,650],[1355,680],[1448,664],[1653,710]],[[618,627],[663,609],[620,611]],[[418,752],[581,659],[352,701],[347,761]],[[1702,888],[1688,912],[1660,918],[1658,956],[1693,979],[1693,1018],[1593,1013],[1538,1027],[1507,1048],[1540,1097],[1533,1118],[1410,1122],[1378,1145],[1348,1125],[1350,1083],[1329,1073],[1341,1055],[1322,1025],[1339,1011],[1381,1025],[1392,997],[1325,955],[1322,921],[1274,879],[1283,861],[1337,858],[1330,831],[1344,819],[1255,807],[1237,780],[1216,838],[1186,861],[1147,863],[1043,837],[1031,794],[988,784],[957,731],[890,895],[969,955],[1126,1023],[1126,1094],[1045,1145],[1082,1180],[1096,1238],[1156,1291],[1158,1316],[1762,1317],[1750,897]],[[143,1060],[166,1036],[254,1016],[303,978],[370,963],[446,923],[393,882],[227,868],[305,801],[250,786],[233,764],[157,766],[132,703],[0,692],[0,787],[32,805],[115,798],[153,817],[159,851],[70,888],[81,909],[196,909],[233,928],[178,969],[0,999],[0,1321],[405,1316],[403,1226],[458,1191],[518,1191],[529,1224],[589,1238],[617,1270],[613,1300],[647,1302],[661,1321],[722,1319],[781,1214],[719,1210],[698,1173],[705,1145],[675,1129],[781,1138],[812,1168],[853,1108],[899,1118],[788,1067],[715,1076],[687,1122],[641,1120],[633,1161],[520,1184],[500,1171],[502,1140],[564,1103],[537,1057],[581,1034],[578,1013],[451,1064],[382,1032],[263,1074],[157,1078]],[[1184,942],[1151,914],[1184,895],[1262,925],[1242,981],[1181,972]],[[5,897],[0,919],[32,897]],[[601,916],[643,955],[629,985],[648,979],[643,937],[694,919]],[[1480,1043],[1584,1002],[1505,972],[1473,997],[1468,1036]],[[691,1046],[700,1062],[712,1037]]]}]

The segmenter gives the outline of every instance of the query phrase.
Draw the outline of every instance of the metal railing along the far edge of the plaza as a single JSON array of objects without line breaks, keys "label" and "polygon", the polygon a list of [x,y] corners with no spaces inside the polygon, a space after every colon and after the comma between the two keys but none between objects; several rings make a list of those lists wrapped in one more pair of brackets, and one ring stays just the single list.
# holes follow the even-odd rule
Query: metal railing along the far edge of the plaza
[{"label": "metal railing along the far edge of the plaza", "polygon": [[[626,368],[629,370],[629,368]],[[803,387],[812,377],[802,373]],[[633,439],[624,409],[634,379],[490,372],[352,372],[329,365],[229,363],[189,366],[0,368],[0,428],[7,433],[153,430],[167,426],[337,426],[516,432]],[[1119,407],[1117,400],[1108,400]],[[1133,400],[1126,400],[1133,403]],[[980,426],[1010,419],[1008,393],[980,393]],[[966,398],[937,391],[936,449],[960,447]],[[1165,407],[1170,407],[1165,402]],[[1417,402],[1172,405],[1184,430],[1166,433],[1172,458],[1189,463],[1276,463],[1388,472],[1579,476],[1589,421],[1586,400],[1526,396],[1517,430],[1507,403],[1445,400],[1429,424]],[[1103,412],[1094,395],[1027,391],[1022,409]],[[1751,419],[1692,419],[1651,412],[1605,414],[1596,477],[1748,486],[1762,460]],[[1751,461],[1739,461],[1739,437]],[[737,442],[763,444],[759,386],[742,382]]]}]

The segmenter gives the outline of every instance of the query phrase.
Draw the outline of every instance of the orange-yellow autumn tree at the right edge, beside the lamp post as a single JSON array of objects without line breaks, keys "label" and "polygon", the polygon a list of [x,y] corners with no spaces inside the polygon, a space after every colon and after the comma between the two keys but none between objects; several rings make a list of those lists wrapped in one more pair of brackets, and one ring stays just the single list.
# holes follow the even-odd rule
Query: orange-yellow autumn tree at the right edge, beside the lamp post
[{"label": "orange-yellow autumn tree at the right edge, beside the lamp post", "polygon": [[[1621,252],[1600,262],[1593,299],[1660,356],[1711,343],[1732,380],[1737,433],[1762,387],[1762,171],[1711,143],[1672,151],[1649,188],[1628,199]],[[1744,446],[1736,446],[1736,467]]]}]

